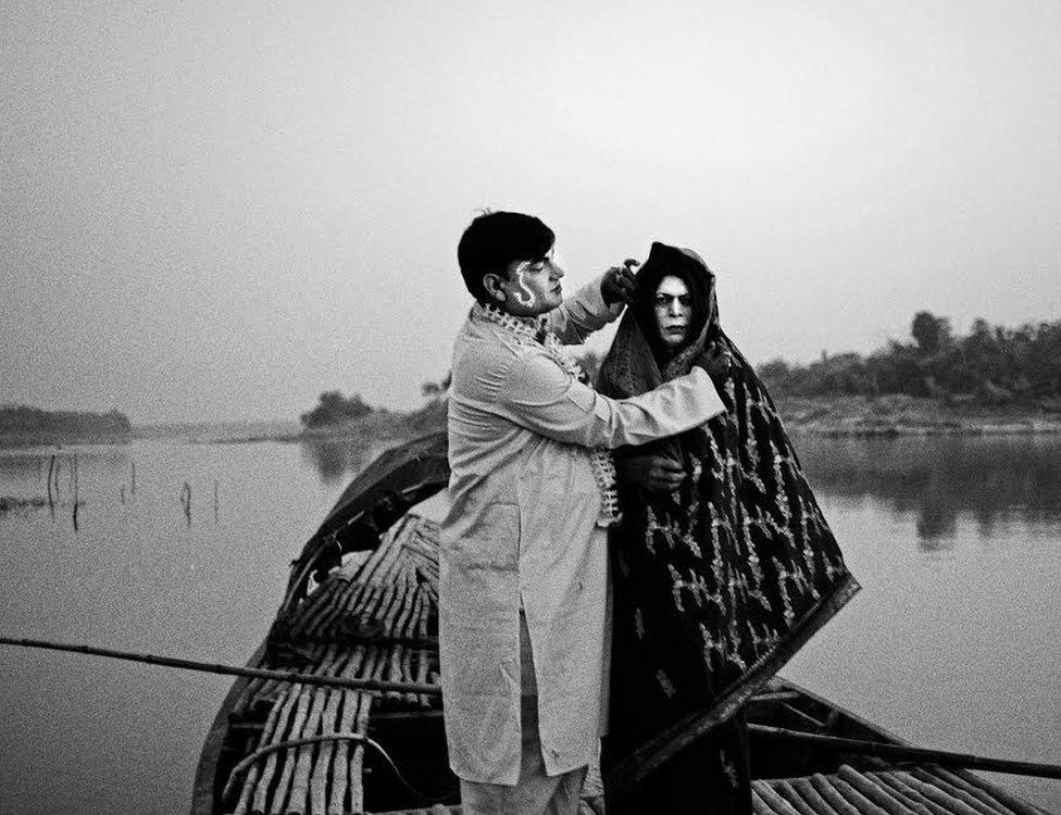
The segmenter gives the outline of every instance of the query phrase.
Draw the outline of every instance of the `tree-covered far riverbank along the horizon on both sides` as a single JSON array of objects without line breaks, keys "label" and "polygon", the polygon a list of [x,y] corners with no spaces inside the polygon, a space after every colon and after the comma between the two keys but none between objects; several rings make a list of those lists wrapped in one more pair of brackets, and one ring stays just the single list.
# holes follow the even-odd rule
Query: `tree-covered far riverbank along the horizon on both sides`
[{"label": "tree-covered far riverbank along the horizon on both sides", "polygon": [[[601,356],[584,350],[595,377]],[[808,364],[756,366],[786,428],[826,437],[1061,434],[1061,321],[1018,328],[950,322],[919,312],[906,341],[867,355],[827,354]],[[422,386],[413,411],[374,408],[360,394],[321,393],[294,422],[145,425],[117,411],[86,413],[0,406],[0,448],[186,438],[204,443],[372,439],[401,441],[446,428],[449,376]]]}]

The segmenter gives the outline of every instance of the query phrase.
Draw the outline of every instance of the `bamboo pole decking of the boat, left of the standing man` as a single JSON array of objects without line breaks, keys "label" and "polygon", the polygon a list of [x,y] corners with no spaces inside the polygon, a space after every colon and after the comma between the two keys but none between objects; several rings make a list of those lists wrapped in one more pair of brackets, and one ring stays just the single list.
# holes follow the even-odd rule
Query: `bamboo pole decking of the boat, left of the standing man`
[{"label": "bamboo pole decking of the boat, left of the standing man", "polygon": [[[371,553],[348,557],[288,613],[284,622],[297,645],[266,651],[259,666],[437,685],[429,649],[400,642],[426,638],[432,616],[437,615],[437,592],[430,585],[438,570],[435,540],[437,525],[410,517],[385,535]],[[371,712],[378,704],[423,710],[429,709],[432,701],[415,693],[373,695],[252,680],[237,701],[234,715],[247,716],[260,705],[267,707],[257,740],[260,749],[333,732],[365,734]],[[226,802],[230,807],[226,811],[238,815],[362,812],[363,763],[364,747],[350,741],[277,750],[237,779],[238,797],[234,793],[236,800]]]}]

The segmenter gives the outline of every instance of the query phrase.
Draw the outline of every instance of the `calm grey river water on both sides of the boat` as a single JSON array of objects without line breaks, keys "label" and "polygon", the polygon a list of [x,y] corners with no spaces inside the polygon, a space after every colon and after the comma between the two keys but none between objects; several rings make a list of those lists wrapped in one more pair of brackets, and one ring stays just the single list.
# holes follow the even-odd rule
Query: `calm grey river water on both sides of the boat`
[{"label": "calm grey river water on both sides of the boat", "polygon": [[[1061,763],[1061,437],[796,447],[863,591],[783,674],[920,745]],[[51,454],[0,452],[0,497],[45,497]],[[54,512],[0,515],[0,634],[242,664],[366,452],[162,439],[57,461]],[[228,685],[0,648],[0,813],[187,812]],[[1061,812],[1061,781],[994,778]]]}]

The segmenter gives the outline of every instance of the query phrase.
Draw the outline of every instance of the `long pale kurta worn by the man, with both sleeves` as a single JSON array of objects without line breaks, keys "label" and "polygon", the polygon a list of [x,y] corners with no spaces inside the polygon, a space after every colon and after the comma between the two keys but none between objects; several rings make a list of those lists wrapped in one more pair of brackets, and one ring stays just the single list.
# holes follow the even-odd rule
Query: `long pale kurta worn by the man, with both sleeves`
[{"label": "long pale kurta worn by the man, with both sleeves", "polygon": [[[591,283],[549,315],[577,342],[620,310]],[[607,534],[590,448],[641,444],[724,409],[704,371],[624,400],[566,374],[537,342],[471,316],[453,350],[449,514],[439,554],[439,651],[450,766],[520,773],[520,606],[530,634],[546,772],[596,757],[604,676]]]}]

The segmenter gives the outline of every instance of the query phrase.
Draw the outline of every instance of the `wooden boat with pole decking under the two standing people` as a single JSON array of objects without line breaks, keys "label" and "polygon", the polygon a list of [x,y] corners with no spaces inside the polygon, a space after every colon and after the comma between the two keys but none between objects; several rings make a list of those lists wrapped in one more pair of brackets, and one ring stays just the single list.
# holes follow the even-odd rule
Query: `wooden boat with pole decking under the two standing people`
[{"label": "wooden boat with pole decking under the two standing people", "polygon": [[[203,747],[192,815],[460,812],[436,691],[438,526],[410,512],[448,476],[446,439],[435,434],[355,478],[292,564],[249,663],[401,685],[237,679]],[[964,769],[776,738],[771,728],[904,744],[781,679],[752,700],[748,720],[762,815],[1043,815]]]}]

